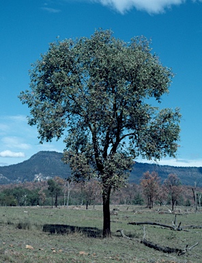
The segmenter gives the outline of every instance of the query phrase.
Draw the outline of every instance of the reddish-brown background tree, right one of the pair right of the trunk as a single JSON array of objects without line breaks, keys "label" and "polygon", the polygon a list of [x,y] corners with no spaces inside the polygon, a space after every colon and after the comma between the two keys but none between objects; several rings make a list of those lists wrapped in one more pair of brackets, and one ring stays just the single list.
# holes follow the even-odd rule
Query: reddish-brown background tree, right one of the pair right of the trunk
[{"label": "reddish-brown background tree, right one of the pair right of the trunk", "polygon": [[168,178],[164,180],[164,186],[171,196],[172,210],[174,210],[174,205],[182,192],[181,182],[177,175],[171,173]]}]

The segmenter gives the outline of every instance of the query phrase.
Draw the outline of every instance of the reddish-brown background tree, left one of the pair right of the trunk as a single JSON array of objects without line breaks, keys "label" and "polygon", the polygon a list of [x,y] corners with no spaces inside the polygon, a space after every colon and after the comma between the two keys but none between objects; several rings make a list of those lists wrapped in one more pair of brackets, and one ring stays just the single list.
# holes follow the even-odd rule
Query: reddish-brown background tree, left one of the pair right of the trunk
[{"label": "reddish-brown background tree, left one of the pair right of the trunk", "polygon": [[147,197],[147,205],[149,209],[151,209],[153,208],[154,199],[157,197],[160,186],[160,177],[158,177],[158,173],[155,171],[152,173],[149,173],[149,171],[143,173],[141,186],[145,197]]}]

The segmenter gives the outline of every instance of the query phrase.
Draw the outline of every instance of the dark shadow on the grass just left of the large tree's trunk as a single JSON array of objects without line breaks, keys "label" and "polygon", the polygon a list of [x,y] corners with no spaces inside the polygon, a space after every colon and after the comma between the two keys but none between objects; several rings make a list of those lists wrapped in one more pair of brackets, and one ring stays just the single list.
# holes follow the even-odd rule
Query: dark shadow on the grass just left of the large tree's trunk
[{"label": "dark shadow on the grass just left of the large tree's trunk", "polygon": [[100,238],[102,237],[102,231],[96,227],[76,227],[73,225],[51,225],[45,224],[43,226],[44,232],[49,232],[50,234],[74,234],[81,233],[85,234],[91,238]]}]

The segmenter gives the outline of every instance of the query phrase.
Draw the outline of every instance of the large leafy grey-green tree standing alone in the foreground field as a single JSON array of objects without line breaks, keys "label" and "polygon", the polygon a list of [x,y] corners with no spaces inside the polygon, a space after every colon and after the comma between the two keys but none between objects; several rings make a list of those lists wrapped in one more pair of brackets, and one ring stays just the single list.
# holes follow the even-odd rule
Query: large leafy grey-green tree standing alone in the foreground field
[{"label": "large leafy grey-green tree standing alone in the foreground field", "polygon": [[30,108],[40,142],[65,136],[64,162],[78,180],[102,184],[103,235],[111,235],[110,195],[126,183],[135,158],[175,156],[179,109],[154,107],[173,73],[143,36],[124,42],[110,30],[51,43],[30,71]]}]

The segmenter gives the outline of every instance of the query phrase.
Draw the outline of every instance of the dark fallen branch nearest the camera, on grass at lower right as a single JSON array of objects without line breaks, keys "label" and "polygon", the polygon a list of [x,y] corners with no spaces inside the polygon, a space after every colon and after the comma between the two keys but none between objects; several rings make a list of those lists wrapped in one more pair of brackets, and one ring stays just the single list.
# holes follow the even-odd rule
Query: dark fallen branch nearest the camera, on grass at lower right
[{"label": "dark fallen branch nearest the camera, on grass at lower right", "polygon": [[[199,244],[199,242],[197,242],[196,244],[192,245],[192,247],[189,247],[189,248],[188,248],[188,245],[186,245],[185,249],[177,249],[177,248],[171,248],[171,247],[162,247],[160,245],[154,244],[153,242],[150,242],[150,241],[146,240],[145,238],[143,238],[143,240],[139,240],[137,238],[136,239],[130,238],[129,236],[126,236],[124,234],[123,229],[117,230],[117,232],[120,232],[121,236],[123,238],[127,238],[127,239],[130,239],[130,240],[135,240],[135,241],[141,242],[142,244],[144,244],[147,247],[150,247],[150,248],[158,250],[158,251],[162,251],[164,253],[177,253],[177,255],[182,255],[182,254],[186,253],[187,251],[190,251],[191,249],[193,249],[194,247],[196,247]],[[144,231],[144,233],[145,233],[145,231]]]}]

